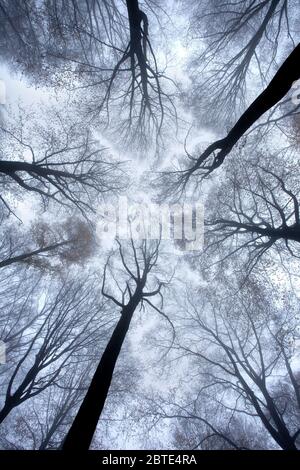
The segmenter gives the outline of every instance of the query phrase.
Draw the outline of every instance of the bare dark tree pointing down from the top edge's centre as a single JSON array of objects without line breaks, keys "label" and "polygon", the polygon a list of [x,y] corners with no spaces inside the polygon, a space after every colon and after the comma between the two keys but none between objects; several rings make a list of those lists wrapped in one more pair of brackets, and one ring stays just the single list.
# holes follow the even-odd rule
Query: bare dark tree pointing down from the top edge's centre
[{"label": "bare dark tree pointing down from the top edge's centre", "polygon": [[[94,61],[85,63],[83,75],[87,83],[82,87],[92,90],[92,93],[96,91],[96,97],[91,97],[88,106],[89,114],[97,118],[105,111],[108,125],[115,127],[115,105],[113,108],[110,103],[119,103],[118,134],[121,133],[123,140],[130,136],[140,146],[145,146],[149,145],[153,134],[157,140],[161,137],[166,116],[176,118],[170,86],[164,91],[161,84],[164,79],[166,84],[172,82],[164,71],[159,71],[150,41],[148,15],[140,6],[141,2],[126,0],[124,3],[128,25],[123,26],[122,43],[114,47],[116,58],[107,65],[95,64]],[[147,3],[151,5],[151,2]],[[147,3],[143,5],[146,8]],[[104,90],[100,99],[99,85]]]}]

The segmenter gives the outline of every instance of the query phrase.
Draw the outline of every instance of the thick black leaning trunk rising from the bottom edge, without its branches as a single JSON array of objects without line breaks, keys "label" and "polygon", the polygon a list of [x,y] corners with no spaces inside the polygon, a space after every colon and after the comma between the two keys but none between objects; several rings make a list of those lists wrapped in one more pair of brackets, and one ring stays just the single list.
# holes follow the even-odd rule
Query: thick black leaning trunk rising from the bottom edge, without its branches
[{"label": "thick black leaning trunk rising from the bottom edge, without its branches", "polygon": [[121,318],[105,348],[91,385],[63,443],[63,450],[88,450],[103,410],[113,372],[133,313],[142,294],[132,297],[123,307]]}]

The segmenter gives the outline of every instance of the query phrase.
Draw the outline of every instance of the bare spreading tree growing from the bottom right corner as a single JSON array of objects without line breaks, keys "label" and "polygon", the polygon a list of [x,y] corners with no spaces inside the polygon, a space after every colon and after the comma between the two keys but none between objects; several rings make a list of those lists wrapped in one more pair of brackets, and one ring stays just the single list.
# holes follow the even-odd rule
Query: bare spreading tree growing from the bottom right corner
[{"label": "bare spreading tree growing from the bottom right corner", "polygon": [[[173,404],[176,415],[167,412],[166,417],[200,421],[210,429],[205,439],[219,435],[237,447],[232,435],[214,424],[227,410],[228,423],[239,415],[258,419],[279,447],[298,448],[297,305],[275,313],[274,304],[271,312],[263,299],[245,301],[243,293],[229,302],[221,296],[201,301],[192,294],[187,302],[189,327],[178,351],[199,364],[202,385],[191,405]],[[221,408],[217,419],[198,414],[212,394]]]}]

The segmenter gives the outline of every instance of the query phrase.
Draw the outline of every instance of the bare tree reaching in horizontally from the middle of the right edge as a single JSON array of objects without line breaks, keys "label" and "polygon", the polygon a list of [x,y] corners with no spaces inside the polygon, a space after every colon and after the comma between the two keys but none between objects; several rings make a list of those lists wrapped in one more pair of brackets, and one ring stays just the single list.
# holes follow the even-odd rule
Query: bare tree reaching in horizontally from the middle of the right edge
[{"label": "bare tree reaching in horizontally from the middle of the right edge", "polygon": [[215,202],[205,221],[208,256],[217,253],[219,260],[225,260],[245,252],[244,271],[248,274],[271,248],[277,248],[281,256],[286,251],[299,257],[295,164],[287,161],[279,172],[273,170],[276,162],[279,164],[279,157],[261,155],[247,166],[232,164],[228,169],[227,183],[212,192]]}]

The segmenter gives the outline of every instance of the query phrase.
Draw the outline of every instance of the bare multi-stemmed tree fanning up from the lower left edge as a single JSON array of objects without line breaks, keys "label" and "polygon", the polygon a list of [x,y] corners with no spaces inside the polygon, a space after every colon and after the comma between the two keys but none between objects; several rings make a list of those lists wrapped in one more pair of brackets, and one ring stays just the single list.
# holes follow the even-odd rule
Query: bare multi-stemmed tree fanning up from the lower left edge
[{"label": "bare multi-stemmed tree fanning up from the lower left edge", "polygon": [[[85,361],[82,351],[101,336],[106,319],[99,321],[101,307],[92,301],[95,284],[65,282],[56,295],[49,294],[42,308],[18,336],[25,337],[7,379],[0,422],[24,401],[59,383],[60,375],[76,360]],[[18,321],[16,318],[15,321]],[[10,332],[3,333],[12,341]]]}]

